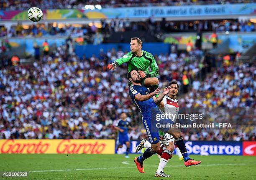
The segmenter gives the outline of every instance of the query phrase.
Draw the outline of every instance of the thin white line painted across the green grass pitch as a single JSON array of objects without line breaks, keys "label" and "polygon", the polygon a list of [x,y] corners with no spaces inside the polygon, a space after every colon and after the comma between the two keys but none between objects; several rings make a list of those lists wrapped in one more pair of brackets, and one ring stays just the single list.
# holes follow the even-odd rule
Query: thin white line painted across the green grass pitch
[{"label": "thin white line painted across the green grass pitch", "polygon": [[[123,161],[123,164],[131,165],[128,161]],[[200,166],[220,166],[220,165],[246,165],[245,163],[241,164],[206,164]],[[148,165],[146,167],[158,167],[157,165]],[[184,165],[167,165],[166,167],[184,167]],[[86,169],[67,169],[67,170],[37,170],[37,171],[29,171],[29,173],[44,173],[44,172],[56,172],[56,171],[72,171],[72,170],[108,170],[108,169],[127,169],[127,168],[135,168],[135,167],[113,167],[113,168],[86,168]]]}]

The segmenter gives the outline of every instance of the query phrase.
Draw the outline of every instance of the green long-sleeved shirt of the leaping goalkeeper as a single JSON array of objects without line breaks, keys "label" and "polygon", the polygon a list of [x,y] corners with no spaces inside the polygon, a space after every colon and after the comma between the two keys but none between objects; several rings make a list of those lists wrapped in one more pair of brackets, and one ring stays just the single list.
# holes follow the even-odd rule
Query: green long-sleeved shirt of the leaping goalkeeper
[{"label": "green long-sleeved shirt of the leaping goalkeeper", "polygon": [[[141,57],[134,55],[130,51],[120,59],[115,60],[115,62],[118,66],[126,62],[128,72],[131,70],[142,70],[147,74],[147,77],[156,77],[159,74],[154,56],[144,50],[142,50]],[[148,71],[148,67],[150,67],[151,72]]]}]

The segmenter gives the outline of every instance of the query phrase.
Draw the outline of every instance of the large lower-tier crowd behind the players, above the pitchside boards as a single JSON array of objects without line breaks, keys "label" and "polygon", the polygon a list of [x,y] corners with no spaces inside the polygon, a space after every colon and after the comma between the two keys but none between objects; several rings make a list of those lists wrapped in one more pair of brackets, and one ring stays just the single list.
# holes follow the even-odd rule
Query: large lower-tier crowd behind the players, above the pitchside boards
[{"label": "large lower-tier crowd behind the players, above the pitchside boards", "polygon": [[[141,115],[128,95],[127,67],[122,65],[115,71],[106,68],[125,53],[112,49],[101,51],[98,56],[79,58],[69,54],[63,45],[33,65],[13,66],[10,61],[6,65],[8,59],[1,58],[0,139],[115,138],[113,125],[121,112],[127,113],[136,129],[129,132],[130,137],[146,137]],[[184,75],[193,87],[184,97],[178,97],[180,107],[256,106],[255,66],[235,66],[231,59],[200,82],[197,79],[203,67],[207,67],[202,57],[200,50],[178,54],[175,47],[171,54],[155,55],[160,87],[172,79],[184,84]],[[255,140],[255,129],[241,130],[198,131],[196,135],[185,131],[184,139]]]}]

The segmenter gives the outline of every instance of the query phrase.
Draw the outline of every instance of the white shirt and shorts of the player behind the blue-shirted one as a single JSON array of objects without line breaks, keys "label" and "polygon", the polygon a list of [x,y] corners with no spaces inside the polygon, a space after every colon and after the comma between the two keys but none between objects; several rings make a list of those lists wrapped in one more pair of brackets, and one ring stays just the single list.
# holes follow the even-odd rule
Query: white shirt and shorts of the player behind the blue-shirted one
[{"label": "white shirt and shorts of the player behind the blue-shirted one", "polygon": [[[172,99],[169,96],[165,96],[163,99],[164,102],[164,112],[172,114],[173,121],[177,119],[177,114],[179,113],[179,101],[177,99]],[[174,141],[174,137],[168,133],[164,133],[165,138],[168,142]]]}]

